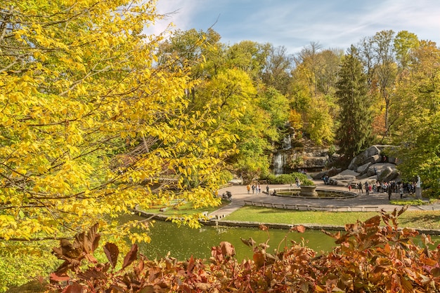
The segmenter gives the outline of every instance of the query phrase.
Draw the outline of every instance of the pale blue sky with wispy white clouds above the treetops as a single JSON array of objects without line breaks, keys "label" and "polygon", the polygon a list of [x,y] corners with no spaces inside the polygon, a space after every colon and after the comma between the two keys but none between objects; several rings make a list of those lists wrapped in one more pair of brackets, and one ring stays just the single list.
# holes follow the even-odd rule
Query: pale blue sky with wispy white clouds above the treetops
[{"label": "pale blue sky with wispy white clouds above the treetops", "polygon": [[227,45],[271,43],[290,54],[312,42],[346,50],[389,29],[440,46],[439,0],[158,0],[157,12],[171,14],[153,33],[169,22],[181,30],[212,27]]}]

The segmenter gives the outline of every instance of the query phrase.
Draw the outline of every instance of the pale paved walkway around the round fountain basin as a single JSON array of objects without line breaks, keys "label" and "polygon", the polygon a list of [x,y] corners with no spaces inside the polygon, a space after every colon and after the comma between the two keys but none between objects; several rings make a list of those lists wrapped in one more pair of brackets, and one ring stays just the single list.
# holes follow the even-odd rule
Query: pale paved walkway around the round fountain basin
[{"label": "pale paved walkway around the round fountain basin", "polygon": [[[339,191],[348,191],[348,188],[345,186],[330,186],[324,185],[321,180],[314,180],[316,183],[317,189],[329,189],[329,190],[339,190]],[[269,189],[271,192],[273,189],[285,189],[289,188],[290,184],[269,184]],[[219,194],[224,193],[225,191],[231,191],[232,193],[232,203],[226,205],[225,207],[220,208],[209,214],[209,216],[226,216],[231,214],[231,212],[238,210],[240,207],[245,205],[246,201],[252,201],[256,203],[264,203],[265,205],[311,205],[311,206],[323,206],[323,207],[347,207],[347,210],[361,210],[363,207],[370,207],[368,210],[375,210],[373,207],[377,207],[377,211],[385,210],[390,212],[395,208],[401,208],[400,205],[391,205],[388,200],[387,193],[370,193],[368,196],[364,193],[357,193],[358,196],[354,198],[332,198],[332,199],[320,199],[320,198],[292,198],[285,196],[267,196],[266,193],[266,185],[261,185],[261,193],[252,194],[252,190],[250,193],[247,193],[247,189],[245,185],[233,185],[228,186],[224,189],[219,190]],[[356,192],[354,192],[356,193]],[[406,195],[408,196],[408,195]],[[393,193],[392,199],[399,199],[399,193]],[[405,198],[405,197],[404,197]],[[409,197],[412,199],[412,197]],[[408,207],[408,210],[440,210],[440,204],[430,204],[430,205],[412,205]]]}]

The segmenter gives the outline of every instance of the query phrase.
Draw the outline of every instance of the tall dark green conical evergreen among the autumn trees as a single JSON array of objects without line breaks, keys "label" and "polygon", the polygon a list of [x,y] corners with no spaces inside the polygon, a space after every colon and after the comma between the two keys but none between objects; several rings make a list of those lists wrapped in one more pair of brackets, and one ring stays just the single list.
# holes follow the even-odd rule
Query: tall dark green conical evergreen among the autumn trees
[{"label": "tall dark green conical evergreen among the autumn trees", "polygon": [[351,159],[368,146],[372,122],[367,79],[354,46],[342,61],[336,88],[340,107],[336,137],[340,152]]}]

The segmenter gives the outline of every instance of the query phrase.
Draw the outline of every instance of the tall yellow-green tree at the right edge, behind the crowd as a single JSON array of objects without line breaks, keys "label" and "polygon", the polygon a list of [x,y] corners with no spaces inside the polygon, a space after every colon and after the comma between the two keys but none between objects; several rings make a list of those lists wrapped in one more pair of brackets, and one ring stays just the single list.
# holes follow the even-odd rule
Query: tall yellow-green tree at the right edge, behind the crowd
[{"label": "tall yellow-green tree at the right edge, behind the crowd", "polygon": [[432,195],[440,190],[440,50],[430,41],[410,53],[409,70],[402,71],[396,86],[398,103],[395,144],[399,145],[399,170],[413,180],[420,175]]}]

